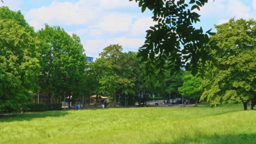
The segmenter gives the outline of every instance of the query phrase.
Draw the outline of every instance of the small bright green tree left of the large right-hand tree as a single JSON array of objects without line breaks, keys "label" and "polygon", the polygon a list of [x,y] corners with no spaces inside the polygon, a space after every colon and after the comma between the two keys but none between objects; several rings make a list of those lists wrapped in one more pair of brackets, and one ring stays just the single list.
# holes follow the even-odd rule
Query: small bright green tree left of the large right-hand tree
[{"label": "small bright green tree left of the large right-hand tree", "polygon": [[200,76],[193,76],[191,74],[184,75],[183,86],[178,88],[178,91],[185,95],[187,98],[195,100],[195,106],[201,97],[201,83],[202,79]]}]

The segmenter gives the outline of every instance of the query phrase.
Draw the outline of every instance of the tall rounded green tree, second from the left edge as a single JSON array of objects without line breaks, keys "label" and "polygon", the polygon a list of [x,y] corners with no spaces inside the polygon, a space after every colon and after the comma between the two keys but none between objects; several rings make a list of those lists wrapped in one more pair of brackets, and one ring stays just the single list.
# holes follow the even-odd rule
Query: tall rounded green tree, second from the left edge
[{"label": "tall rounded green tree, second from the left edge", "polygon": [[[84,91],[86,56],[80,38],[68,35],[63,28],[45,25],[38,31],[41,40],[40,81],[42,91],[51,98],[62,98],[66,92],[74,100]],[[72,101],[69,97],[68,101]]]}]

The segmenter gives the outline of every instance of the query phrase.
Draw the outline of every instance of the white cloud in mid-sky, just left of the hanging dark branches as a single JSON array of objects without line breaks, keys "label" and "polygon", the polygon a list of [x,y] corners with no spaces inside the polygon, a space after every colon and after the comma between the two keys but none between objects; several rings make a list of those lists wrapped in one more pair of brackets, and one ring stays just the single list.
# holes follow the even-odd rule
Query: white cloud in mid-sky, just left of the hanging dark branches
[{"label": "white cloud in mid-sky, just left of the hanging dark branches", "polygon": [[[134,20],[136,19],[136,20]],[[100,37],[106,34],[122,34],[125,36],[145,36],[150,26],[156,22],[150,17],[135,17],[129,14],[110,14],[103,17],[99,25],[77,30],[78,35]]]}]

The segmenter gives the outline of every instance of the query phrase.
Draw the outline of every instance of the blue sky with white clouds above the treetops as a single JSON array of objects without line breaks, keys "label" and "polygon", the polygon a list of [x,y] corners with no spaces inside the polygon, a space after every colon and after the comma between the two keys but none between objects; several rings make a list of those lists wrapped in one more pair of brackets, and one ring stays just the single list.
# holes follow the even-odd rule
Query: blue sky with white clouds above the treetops
[{"label": "blue sky with white clouds above the treetops", "polygon": [[[144,43],[145,31],[154,25],[152,13],[142,14],[137,3],[129,0],[4,0],[2,5],[21,10],[36,31],[48,23],[78,34],[86,56],[91,57],[98,57],[110,44],[123,45],[125,52],[137,51]],[[195,26],[205,31],[231,17],[256,19],[256,0],[208,0],[199,14],[201,22]]]}]

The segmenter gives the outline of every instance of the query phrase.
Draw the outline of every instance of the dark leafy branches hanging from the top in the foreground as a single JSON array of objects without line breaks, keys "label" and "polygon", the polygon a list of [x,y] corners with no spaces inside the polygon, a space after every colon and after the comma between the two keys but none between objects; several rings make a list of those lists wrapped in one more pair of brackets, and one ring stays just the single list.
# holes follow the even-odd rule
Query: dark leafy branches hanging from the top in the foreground
[{"label": "dark leafy branches hanging from the top in the foreground", "polygon": [[139,49],[139,56],[148,61],[147,64],[153,63],[160,74],[165,69],[173,74],[185,67],[195,75],[207,60],[212,59],[207,43],[208,34],[213,33],[209,30],[204,34],[202,28],[193,26],[193,23],[200,21],[200,15],[193,10],[200,10],[208,0],[135,1],[142,7],[142,13],[147,8],[153,11],[152,19],[158,22],[146,31],[145,44]]}]

